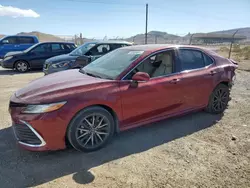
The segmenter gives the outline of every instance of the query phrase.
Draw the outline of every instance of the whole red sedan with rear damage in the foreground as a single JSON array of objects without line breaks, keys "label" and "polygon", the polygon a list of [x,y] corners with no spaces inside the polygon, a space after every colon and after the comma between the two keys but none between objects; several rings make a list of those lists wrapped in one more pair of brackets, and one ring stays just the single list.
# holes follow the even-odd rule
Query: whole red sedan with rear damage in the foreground
[{"label": "whole red sedan with rear damage in the foreground", "polygon": [[29,83],[12,95],[9,111],[28,150],[63,149],[67,140],[93,151],[115,132],[196,110],[223,113],[236,68],[200,47],[124,47]]}]

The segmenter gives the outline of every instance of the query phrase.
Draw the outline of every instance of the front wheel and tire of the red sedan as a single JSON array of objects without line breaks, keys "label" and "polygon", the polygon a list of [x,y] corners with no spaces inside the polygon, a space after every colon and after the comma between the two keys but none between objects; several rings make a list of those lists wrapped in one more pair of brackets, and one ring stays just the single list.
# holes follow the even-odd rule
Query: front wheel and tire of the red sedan
[{"label": "front wheel and tire of the red sedan", "polygon": [[114,135],[114,118],[104,108],[89,107],[70,122],[67,138],[78,151],[91,152],[104,147]]}]

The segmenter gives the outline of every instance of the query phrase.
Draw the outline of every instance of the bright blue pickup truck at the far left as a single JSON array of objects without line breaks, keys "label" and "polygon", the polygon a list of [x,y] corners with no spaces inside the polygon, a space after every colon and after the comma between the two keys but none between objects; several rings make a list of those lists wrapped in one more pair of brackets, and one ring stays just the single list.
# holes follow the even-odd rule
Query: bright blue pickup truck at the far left
[{"label": "bright blue pickup truck at the far left", "polygon": [[38,42],[36,36],[5,36],[0,39],[0,59],[3,59],[8,52],[23,51]]}]

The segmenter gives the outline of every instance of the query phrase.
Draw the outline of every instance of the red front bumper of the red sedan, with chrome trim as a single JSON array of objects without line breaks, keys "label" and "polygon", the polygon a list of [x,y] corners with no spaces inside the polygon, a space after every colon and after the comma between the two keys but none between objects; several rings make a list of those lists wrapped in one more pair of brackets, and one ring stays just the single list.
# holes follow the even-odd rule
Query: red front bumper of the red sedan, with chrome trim
[{"label": "red front bumper of the red sedan, with chrome trim", "polygon": [[67,108],[43,114],[23,114],[25,104],[11,97],[9,112],[18,144],[30,151],[52,151],[65,149],[65,135],[71,117]]}]

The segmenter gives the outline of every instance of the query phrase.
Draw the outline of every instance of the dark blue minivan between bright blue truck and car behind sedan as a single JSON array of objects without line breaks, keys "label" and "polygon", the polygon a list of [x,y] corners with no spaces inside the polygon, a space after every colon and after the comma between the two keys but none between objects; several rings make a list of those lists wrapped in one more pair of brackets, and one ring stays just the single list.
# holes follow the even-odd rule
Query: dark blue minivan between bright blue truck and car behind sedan
[{"label": "dark blue minivan between bright blue truck and car behind sedan", "polygon": [[74,50],[75,44],[68,42],[43,42],[20,52],[9,52],[1,64],[3,68],[27,72],[30,69],[42,69],[46,59],[67,54]]}]

